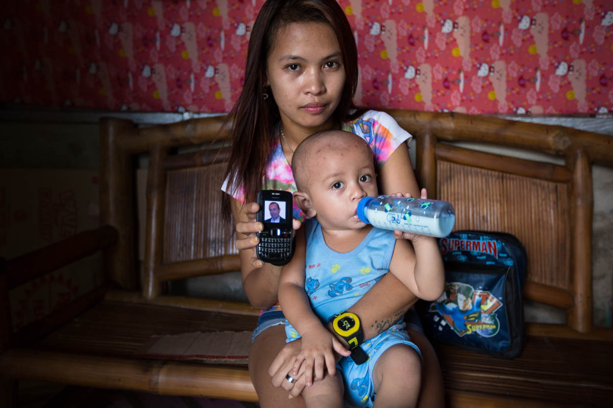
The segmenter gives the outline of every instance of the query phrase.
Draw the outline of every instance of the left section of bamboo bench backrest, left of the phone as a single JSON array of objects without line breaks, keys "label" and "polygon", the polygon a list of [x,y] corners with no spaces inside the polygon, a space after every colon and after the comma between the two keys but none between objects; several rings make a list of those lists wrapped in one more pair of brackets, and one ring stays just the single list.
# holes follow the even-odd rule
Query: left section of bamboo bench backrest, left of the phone
[{"label": "left section of bamboo bench backrest, left of the phone", "polygon": [[124,289],[138,284],[133,163],[140,154],[149,156],[143,297],[161,294],[164,281],[240,270],[232,226],[221,220],[225,152],[175,153],[177,147],[207,147],[223,120],[210,117],[145,128],[119,119],[101,122],[101,219],[120,236],[117,247],[107,251],[106,269]]}]

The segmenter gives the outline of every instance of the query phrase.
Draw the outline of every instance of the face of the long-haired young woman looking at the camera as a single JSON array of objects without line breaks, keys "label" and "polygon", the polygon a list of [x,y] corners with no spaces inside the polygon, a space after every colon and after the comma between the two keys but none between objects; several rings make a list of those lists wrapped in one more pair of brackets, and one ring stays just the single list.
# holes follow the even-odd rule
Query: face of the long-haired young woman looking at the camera
[{"label": "face of the long-haired young woman looking at the camera", "polygon": [[345,66],[326,23],[291,23],[276,34],[267,61],[267,84],[286,134],[330,127],[345,86]]}]

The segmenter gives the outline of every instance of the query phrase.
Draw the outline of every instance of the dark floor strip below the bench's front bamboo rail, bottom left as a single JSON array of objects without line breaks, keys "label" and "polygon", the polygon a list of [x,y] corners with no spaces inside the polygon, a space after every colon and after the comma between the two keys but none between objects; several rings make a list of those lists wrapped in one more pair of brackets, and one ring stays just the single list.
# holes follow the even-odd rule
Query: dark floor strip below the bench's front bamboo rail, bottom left
[{"label": "dark floor strip below the bench's front bamboo rail, bottom left", "polygon": [[20,382],[20,408],[259,408],[255,402]]}]

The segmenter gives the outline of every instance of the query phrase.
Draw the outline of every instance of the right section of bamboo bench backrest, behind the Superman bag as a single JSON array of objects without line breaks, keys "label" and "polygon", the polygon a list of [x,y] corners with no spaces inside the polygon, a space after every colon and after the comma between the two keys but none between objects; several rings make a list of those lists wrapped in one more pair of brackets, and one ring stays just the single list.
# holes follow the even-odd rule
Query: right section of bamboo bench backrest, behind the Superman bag
[{"label": "right section of bamboo bench backrest, behind the Superman bag", "polygon": [[[612,163],[613,138],[493,117],[390,113],[417,139],[420,184],[454,204],[454,229],[517,236],[528,254],[525,297],[566,310],[569,327],[590,332],[591,165]],[[508,146],[564,164],[466,149],[457,142]]]}]

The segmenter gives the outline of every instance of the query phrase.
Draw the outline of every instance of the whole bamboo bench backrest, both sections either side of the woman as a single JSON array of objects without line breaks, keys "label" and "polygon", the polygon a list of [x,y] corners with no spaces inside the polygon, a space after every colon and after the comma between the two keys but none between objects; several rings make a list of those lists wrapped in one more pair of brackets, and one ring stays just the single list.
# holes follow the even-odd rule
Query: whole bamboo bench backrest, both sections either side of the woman
[{"label": "whole bamboo bench backrest, both sections either side of the woman", "polygon": [[[454,204],[455,229],[516,235],[528,252],[528,299],[567,311],[570,327],[592,328],[591,164],[613,163],[606,135],[570,128],[453,113],[389,111],[417,141],[419,184]],[[220,218],[223,163],[216,152],[171,155],[176,147],[213,140],[223,117],[135,128],[102,122],[101,218],[120,245],[107,270],[121,286],[134,276],[132,156],[147,153],[147,232],[142,294],[153,299],[163,281],[239,270],[232,228]],[[226,137],[224,133],[222,138]],[[452,146],[476,142],[533,150],[563,165],[503,157]],[[104,160],[107,157],[107,160]],[[223,157],[223,155],[222,155]]]}]

